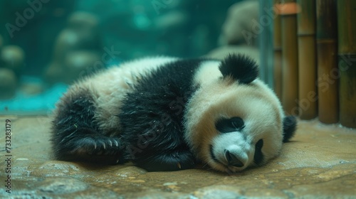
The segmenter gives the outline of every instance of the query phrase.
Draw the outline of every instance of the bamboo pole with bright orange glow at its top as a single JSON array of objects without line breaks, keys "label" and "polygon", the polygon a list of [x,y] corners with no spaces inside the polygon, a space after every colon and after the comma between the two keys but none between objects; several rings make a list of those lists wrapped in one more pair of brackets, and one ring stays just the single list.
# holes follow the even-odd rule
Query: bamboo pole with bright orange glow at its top
[{"label": "bamboo pole with bright orange glow at its top", "polygon": [[298,44],[295,0],[286,0],[281,10],[282,104],[286,114],[298,115]]}]

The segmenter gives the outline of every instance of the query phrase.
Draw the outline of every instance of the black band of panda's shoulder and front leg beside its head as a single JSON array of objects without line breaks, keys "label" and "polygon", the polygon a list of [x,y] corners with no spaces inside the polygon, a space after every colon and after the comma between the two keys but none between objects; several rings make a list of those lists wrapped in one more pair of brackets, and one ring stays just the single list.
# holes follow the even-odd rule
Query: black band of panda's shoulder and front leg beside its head
[{"label": "black band of panda's shoulder and front leg beside its head", "polygon": [[121,112],[127,158],[148,171],[174,171],[194,166],[184,142],[182,124],[192,80],[202,60],[179,60],[143,78],[127,94]]}]

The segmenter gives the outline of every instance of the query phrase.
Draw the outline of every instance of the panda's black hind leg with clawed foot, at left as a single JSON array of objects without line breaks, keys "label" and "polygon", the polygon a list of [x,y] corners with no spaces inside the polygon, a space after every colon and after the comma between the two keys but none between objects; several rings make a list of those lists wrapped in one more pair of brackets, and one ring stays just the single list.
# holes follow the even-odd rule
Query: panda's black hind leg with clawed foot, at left
[{"label": "panda's black hind leg with clawed foot, at left", "polygon": [[95,104],[88,90],[75,88],[63,96],[52,126],[51,141],[58,160],[103,164],[124,162],[120,139],[100,132],[94,114]]}]

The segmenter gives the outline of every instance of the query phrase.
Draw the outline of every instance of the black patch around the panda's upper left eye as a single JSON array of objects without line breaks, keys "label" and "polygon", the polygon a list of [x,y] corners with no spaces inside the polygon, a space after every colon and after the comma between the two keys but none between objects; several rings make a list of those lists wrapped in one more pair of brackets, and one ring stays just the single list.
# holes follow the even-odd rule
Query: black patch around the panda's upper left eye
[{"label": "black patch around the panda's upper left eye", "polygon": [[229,133],[234,131],[240,131],[244,129],[244,120],[241,117],[221,118],[219,119],[215,127],[221,133]]}]

